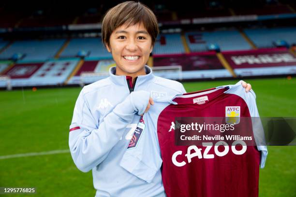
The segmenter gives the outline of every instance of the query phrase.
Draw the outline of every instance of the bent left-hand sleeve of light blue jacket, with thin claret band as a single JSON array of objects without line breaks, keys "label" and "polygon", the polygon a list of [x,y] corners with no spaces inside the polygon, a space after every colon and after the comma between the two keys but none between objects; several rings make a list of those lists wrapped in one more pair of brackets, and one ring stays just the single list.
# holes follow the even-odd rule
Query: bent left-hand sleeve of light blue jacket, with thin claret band
[{"label": "bent left-hand sleeve of light blue jacket, with thin claret band", "polygon": [[70,152],[78,169],[88,172],[99,165],[132,122],[133,115],[145,111],[149,93],[139,92],[130,94],[101,123],[92,115],[83,90],[80,92],[69,133]]}]

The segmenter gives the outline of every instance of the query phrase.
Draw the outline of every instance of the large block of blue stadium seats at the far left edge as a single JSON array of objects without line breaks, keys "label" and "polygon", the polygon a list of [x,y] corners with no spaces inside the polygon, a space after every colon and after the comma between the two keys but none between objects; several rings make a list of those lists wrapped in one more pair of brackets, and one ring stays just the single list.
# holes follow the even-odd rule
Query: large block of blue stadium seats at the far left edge
[{"label": "large block of blue stadium seats at the far left edge", "polygon": [[0,59],[10,59],[15,53],[24,54],[22,60],[45,61],[53,58],[65,39],[15,41],[0,54]]}]

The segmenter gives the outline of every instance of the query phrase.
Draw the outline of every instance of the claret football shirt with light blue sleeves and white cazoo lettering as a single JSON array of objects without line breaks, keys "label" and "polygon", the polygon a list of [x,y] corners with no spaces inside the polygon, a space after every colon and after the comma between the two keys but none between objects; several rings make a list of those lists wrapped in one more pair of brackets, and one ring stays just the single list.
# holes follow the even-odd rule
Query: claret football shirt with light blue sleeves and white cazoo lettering
[{"label": "claret football shirt with light blue sleeves and white cazoo lettering", "polygon": [[[246,93],[239,82],[166,99],[155,99],[144,115],[141,139],[135,148],[126,150],[120,165],[147,183],[161,169],[168,197],[258,196],[259,166],[264,168],[267,156],[266,146],[259,143],[265,140],[260,123],[252,123],[256,146],[246,146],[241,155],[229,146],[230,151],[220,156],[214,146],[175,145],[172,127],[176,117],[225,117],[227,110],[239,117],[259,117],[255,93]],[[203,154],[206,149],[212,156],[188,158],[188,153]]]}]

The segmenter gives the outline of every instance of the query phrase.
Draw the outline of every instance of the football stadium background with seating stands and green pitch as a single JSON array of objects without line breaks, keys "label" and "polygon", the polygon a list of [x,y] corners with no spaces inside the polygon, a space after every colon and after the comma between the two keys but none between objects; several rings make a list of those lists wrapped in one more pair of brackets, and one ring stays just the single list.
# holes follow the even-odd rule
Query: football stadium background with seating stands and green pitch
[{"label": "football stadium background with seating stands and green pitch", "polygon": [[[69,126],[82,88],[117,66],[102,41],[102,20],[121,2],[0,2],[1,196],[96,195],[92,172],[73,161]],[[146,64],[155,76],[188,93],[243,80],[261,117],[296,117],[295,1],[141,2],[160,30]],[[296,197],[296,147],[267,149],[259,197]]]}]

